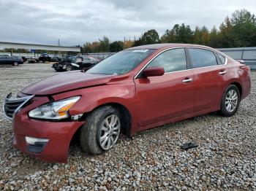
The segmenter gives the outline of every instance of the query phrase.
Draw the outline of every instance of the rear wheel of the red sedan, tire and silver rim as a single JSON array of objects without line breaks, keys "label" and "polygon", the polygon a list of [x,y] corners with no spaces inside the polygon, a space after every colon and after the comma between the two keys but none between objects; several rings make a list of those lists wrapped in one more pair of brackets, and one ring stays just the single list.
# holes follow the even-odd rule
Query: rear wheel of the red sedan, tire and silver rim
[{"label": "rear wheel of the red sedan, tire and silver rim", "polygon": [[221,110],[219,111],[225,117],[236,114],[241,101],[241,95],[236,85],[229,85],[222,96]]}]

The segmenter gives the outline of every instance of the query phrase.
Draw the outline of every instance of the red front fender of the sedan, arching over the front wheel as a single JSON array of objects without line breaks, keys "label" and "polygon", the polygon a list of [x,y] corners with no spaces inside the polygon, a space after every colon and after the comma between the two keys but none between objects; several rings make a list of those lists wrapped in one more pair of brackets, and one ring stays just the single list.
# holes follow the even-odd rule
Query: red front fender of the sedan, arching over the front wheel
[{"label": "red front fender of the sedan, arching over the front wheel", "polygon": [[132,129],[135,133],[138,129],[137,107],[134,83],[115,84],[115,85],[96,85],[78,90],[72,90],[66,93],[53,95],[54,100],[83,95],[80,100],[69,109],[70,115],[89,113],[99,106],[107,104],[120,104],[124,106],[131,115]]}]

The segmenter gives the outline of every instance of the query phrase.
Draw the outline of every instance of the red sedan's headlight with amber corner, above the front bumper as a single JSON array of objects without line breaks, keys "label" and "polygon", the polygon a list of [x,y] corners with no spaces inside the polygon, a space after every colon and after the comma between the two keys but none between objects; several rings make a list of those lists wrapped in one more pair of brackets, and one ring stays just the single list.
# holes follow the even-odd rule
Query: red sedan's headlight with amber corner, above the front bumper
[{"label": "red sedan's headlight with amber corner, above the front bumper", "polygon": [[80,99],[80,96],[44,104],[29,112],[29,117],[45,120],[61,120],[69,117],[69,109]]}]

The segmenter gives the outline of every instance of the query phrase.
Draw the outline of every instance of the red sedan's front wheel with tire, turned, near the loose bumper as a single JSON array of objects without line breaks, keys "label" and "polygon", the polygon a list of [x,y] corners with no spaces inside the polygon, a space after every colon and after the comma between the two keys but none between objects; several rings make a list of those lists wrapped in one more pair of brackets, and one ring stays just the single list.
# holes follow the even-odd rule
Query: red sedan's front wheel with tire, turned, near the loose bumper
[{"label": "red sedan's front wheel with tire, turned, near the loose bumper", "polygon": [[[108,122],[113,124],[112,117],[115,116],[118,117],[118,119],[116,118],[117,120],[115,121],[116,124],[119,123],[119,125],[113,125],[112,128],[108,127],[106,124]],[[106,123],[106,121],[108,122]],[[117,130],[118,127],[119,129]],[[87,117],[86,124],[83,125],[80,132],[80,145],[83,151],[89,155],[100,155],[114,147],[120,135],[120,131],[121,114],[113,106],[102,106],[99,109],[96,109],[94,112],[91,112],[91,114],[89,114]],[[108,142],[113,144],[109,148],[107,147]]]}]

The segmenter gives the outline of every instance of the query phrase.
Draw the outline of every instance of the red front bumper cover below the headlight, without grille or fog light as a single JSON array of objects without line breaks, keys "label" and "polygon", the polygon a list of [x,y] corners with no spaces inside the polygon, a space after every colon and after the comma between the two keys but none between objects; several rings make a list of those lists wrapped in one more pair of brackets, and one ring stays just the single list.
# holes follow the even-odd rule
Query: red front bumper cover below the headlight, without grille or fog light
[{"label": "red front bumper cover below the headlight, without grille or fog light", "polygon": [[[69,144],[75,131],[84,122],[47,122],[31,120],[22,112],[16,114],[13,121],[13,146],[27,155],[40,160],[67,163]],[[26,143],[26,136],[37,139],[48,139],[42,152],[30,152],[30,145]]]}]

